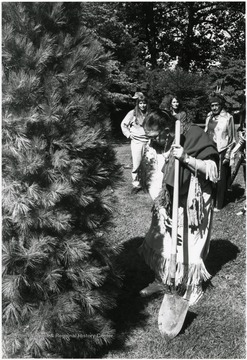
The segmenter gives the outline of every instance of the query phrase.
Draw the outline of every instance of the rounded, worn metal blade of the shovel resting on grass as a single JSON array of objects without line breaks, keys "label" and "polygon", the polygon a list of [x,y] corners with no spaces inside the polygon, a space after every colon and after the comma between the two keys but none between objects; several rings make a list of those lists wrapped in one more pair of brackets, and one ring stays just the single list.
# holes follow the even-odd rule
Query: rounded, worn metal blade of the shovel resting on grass
[{"label": "rounded, worn metal blade of the shovel resting on grass", "polygon": [[158,325],[164,337],[173,339],[178,335],[189,308],[189,301],[175,294],[165,294],[158,316]]}]

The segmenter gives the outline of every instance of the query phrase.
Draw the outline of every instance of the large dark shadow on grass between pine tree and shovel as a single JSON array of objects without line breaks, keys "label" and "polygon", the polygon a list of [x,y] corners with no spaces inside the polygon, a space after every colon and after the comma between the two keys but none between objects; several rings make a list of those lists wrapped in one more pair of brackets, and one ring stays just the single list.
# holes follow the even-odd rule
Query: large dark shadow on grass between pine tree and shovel
[{"label": "large dark shadow on grass between pine tree and shovel", "polygon": [[[130,330],[147,326],[147,318],[150,315],[145,313],[145,307],[150,298],[142,298],[139,291],[154,280],[154,274],[138,254],[138,248],[143,240],[144,238],[139,237],[126,241],[117,257],[117,263],[124,275],[117,307],[110,313],[117,336],[114,342],[103,350],[104,354],[123,350]],[[102,351],[99,355],[103,355]]]}]

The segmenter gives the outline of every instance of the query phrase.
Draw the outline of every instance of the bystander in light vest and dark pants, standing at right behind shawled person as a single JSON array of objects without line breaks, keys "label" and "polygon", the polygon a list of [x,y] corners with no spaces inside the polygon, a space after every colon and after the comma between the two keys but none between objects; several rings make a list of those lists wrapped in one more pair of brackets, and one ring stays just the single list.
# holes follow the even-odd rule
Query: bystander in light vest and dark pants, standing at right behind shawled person
[{"label": "bystander in light vest and dark pants, standing at right behind shawled person", "polygon": [[211,111],[205,122],[205,132],[216,145],[219,152],[219,179],[216,187],[214,211],[220,211],[225,205],[227,183],[231,177],[230,154],[235,145],[235,127],[233,116],[224,109],[224,98],[212,94],[209,98]]}]

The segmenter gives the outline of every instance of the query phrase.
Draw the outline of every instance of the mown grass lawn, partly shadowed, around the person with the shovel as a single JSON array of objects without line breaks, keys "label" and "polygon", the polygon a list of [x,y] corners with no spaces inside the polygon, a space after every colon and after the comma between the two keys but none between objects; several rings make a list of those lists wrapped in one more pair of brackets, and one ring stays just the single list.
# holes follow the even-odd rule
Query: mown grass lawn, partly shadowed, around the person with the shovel
[{"label": "mown grass lawn, partly shadowed, around the person with the shovel", "polygon": [[[131,165],[128,143],[116,146],[119,162]],[[131,169],[115,190],[118,210],[112,239],[123,244],[118,262],[124,273],[118,306],[112,313],[117,339],[102,358],[245,359],[245,216],[243,172],[240,169],[226,207],[214,215],[211,248],[206,266],[212,274],[203,298],[189,309],[181,333],[161,337],[157,317],[162,295],[141,298],[139,291],[153,281],[153,272],[137,253],[151,222],[148,194],[131,195]]]}]

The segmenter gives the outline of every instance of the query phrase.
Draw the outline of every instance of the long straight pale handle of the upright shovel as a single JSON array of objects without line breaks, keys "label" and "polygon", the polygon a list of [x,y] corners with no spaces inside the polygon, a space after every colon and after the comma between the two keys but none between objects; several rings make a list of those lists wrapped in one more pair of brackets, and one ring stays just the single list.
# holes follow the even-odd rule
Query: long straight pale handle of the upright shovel
[{"label": "long straight pale handle of the upright shovel", "polygon": [[[175,145],[180,144],[180,120],[175,124]],[[175,279],[177,260],[177,235],[178,235],[178,201],[179,201],[179,160],[175,159],[174,185],[172,203],[172,244],[170,259],[171,279]]]}]

